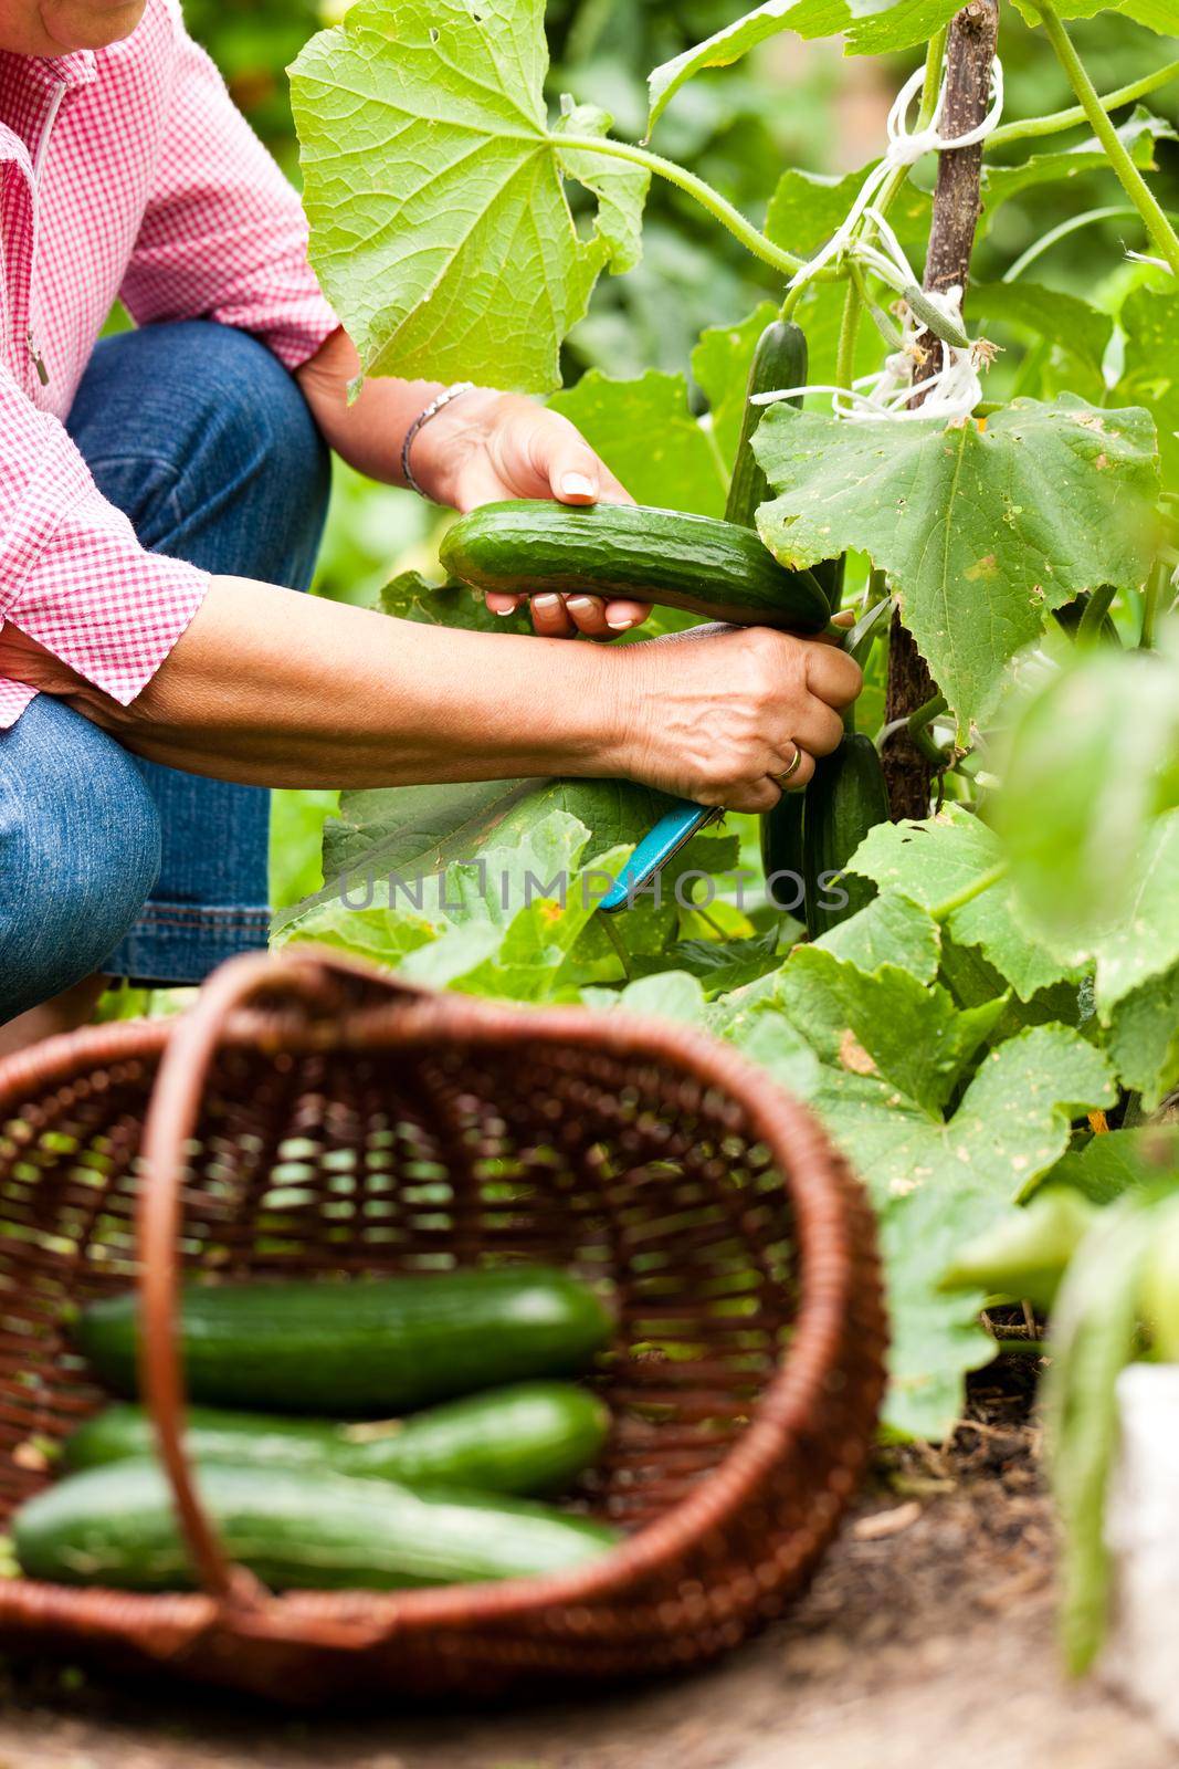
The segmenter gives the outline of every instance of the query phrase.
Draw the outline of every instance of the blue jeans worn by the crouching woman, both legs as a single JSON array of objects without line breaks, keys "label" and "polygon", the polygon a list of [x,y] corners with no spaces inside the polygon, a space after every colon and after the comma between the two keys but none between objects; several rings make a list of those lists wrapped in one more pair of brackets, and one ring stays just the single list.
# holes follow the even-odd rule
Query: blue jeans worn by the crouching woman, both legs
[{"label": "blue jeans worn by the crouching woman, both legs", "polygon": [[[207,320],[106,338],[69,432],[145,547],[309,586],[327,449],[255,338]],[[269,814],[262,787],[140,761],[39,695],[0,732],[0,1022],[94,971],[193,984],[265,946]]]}]

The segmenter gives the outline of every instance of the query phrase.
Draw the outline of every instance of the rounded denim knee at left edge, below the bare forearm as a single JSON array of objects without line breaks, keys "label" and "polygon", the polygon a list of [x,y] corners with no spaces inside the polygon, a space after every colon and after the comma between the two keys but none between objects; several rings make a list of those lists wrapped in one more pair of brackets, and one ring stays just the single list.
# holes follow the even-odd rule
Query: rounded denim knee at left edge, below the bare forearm
[{"label": "rounded denim knee at left edge, below the bare forearm", "polygon": [[0,1022],[103,968],[159,872],[131,755],[41,695],[0,732]]}]

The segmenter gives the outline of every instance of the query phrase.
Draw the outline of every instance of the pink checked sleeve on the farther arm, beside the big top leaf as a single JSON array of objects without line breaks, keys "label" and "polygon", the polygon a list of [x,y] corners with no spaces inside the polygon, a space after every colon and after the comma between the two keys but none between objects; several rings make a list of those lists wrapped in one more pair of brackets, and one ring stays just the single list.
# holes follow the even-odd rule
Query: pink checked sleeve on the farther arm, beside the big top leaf
[{"label": "pink checked sleeve on the farther arm, beside the big top leaf", "polygon": [[141,325],[214,318],[299,368],[339,325],[308,264],[302,205],[170,11],[171,111],[122,299]]}]

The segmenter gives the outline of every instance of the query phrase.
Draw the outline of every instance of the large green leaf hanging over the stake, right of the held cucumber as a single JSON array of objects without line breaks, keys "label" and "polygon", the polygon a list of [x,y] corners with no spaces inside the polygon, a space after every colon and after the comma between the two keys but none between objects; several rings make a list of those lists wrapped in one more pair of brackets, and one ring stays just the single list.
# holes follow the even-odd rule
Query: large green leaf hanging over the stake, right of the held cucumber
[{"label": "large green leaf hanging over the stake, right of the held cucumber", "polygon": [[870,554],[963,736],[1050,609],[1138,587],[1151,563],[1154,425],[1135,409],[1064,394],[946,428],[776,405],[755,453],[781,494],[758,511],[765,545],[787,566]]}]

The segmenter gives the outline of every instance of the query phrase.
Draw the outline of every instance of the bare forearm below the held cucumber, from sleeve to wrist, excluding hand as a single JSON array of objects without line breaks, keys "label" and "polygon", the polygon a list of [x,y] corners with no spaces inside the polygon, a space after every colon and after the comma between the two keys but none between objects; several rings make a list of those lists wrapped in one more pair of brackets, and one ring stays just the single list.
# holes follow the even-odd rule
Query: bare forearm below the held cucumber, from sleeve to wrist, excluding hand
[{"label": "bare forearm below the held cucumber, from sleeve to wrist, excluding hand", "polygon": [[619,672],[605,649],[396,621],[247,578],[214,578],[127,708],[12,626],[0,674],[62,695],[150,761],[258,785],[624,768]]}]

